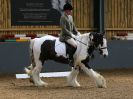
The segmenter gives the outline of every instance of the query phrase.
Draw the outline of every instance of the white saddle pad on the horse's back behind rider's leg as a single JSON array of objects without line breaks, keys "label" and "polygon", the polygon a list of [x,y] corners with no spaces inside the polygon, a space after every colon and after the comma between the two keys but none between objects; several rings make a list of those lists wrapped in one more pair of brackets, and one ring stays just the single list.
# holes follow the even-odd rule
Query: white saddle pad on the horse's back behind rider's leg
[{"label": "white saddle pad on the horse's back behind rider's leg", "polygon": [[57,53],[57,56],[64,56],[67,58],[65,43],[59,41],[59,38],[55,41],[55,52]]}]

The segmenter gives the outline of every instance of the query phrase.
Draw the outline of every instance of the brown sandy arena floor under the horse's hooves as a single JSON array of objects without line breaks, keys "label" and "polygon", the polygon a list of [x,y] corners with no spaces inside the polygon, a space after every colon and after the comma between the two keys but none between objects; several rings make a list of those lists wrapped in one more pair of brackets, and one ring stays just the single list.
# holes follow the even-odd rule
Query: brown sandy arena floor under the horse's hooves
[{"label": "brown sandy arena floor under the horse's hooves", "polygon": [[43,78],[48,87],[35,87],[28,79],[0,75],[0,99],[133,99],[133,69],[98,71],[107,80],[107,88],[97,88],[80,73],[79,88],[67,86],[65,78]]}]

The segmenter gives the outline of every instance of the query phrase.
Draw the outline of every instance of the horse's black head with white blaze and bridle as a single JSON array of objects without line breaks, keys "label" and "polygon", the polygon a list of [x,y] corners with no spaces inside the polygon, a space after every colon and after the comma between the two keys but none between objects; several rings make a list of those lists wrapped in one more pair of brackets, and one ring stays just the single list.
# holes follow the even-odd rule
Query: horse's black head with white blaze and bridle
[{"label": "horse's black head with white blaze and bridle", "polygon": [[108,56],[108,50],[107,50],[107,40],[104,38],[104,35],[101,33],[90,33],[90,46],[93,49],[98,49],[100,54],[104,57]]}]

